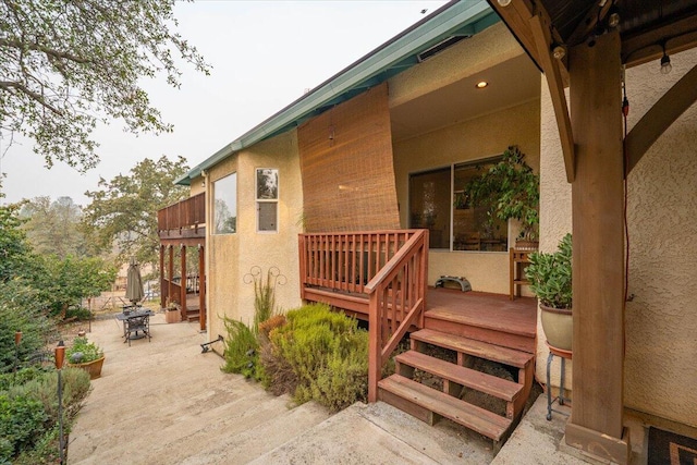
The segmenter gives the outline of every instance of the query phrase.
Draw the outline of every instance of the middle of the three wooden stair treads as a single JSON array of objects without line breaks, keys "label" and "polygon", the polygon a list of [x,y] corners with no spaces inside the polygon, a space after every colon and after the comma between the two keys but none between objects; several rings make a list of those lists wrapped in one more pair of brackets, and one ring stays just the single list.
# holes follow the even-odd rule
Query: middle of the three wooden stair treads
[{"label": "middle of the three wooden stair treads", "polygon": [[502,399],[506,402],[515,401],[523,390],[521,384],[509,381],[508,379],[461,367],[460,365],[451,364],[416,351],[404,352],[398,355],[395,360],[398,364],[427,371],[439,378]]}]

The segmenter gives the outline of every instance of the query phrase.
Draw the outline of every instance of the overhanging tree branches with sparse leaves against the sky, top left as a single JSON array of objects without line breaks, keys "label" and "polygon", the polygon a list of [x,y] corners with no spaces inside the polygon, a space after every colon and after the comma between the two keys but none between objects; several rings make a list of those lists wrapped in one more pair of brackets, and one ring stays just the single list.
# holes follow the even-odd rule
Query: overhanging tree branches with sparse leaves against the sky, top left
[{"label": "overhanging tree branches with sparse leaves against the sky, top left", "polygon": [[179,87],[172,50],[197,71],[208,65],[173,30],[175,0],[0,0],[0,130],[33,138],[34,151],[85,171],[99,157],[97,122],[169,132],[140,87],[164,74]]}]

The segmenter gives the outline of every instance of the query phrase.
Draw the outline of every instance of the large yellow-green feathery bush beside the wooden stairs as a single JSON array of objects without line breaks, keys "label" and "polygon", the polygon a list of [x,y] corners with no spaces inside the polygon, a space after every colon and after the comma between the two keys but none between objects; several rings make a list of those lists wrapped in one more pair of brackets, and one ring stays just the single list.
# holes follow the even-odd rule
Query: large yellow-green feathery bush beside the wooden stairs
[{"label": "large yellow-green feathery bush beside the wooden stairs", "polygon": [[[295,384],[289,386],[298,403],[314,400],[339,411],[365,400],[368,379],[368,333],[355,319],[326,305],[307,305],[286,314],[288,323],[269,334],[270,351],[280,362],[261,358],[273,381],[274,369],[290,366]],[[285,382],[291,379],[283,375]],[[289,383],[290,384],[290,383]]]}]

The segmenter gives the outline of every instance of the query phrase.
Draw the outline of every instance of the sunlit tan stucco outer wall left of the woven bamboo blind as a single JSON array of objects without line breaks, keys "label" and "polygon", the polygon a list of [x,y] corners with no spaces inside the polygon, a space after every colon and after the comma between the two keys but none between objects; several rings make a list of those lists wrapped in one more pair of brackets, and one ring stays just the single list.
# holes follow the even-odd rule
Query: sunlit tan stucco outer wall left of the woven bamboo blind
[{"label": "sunlit tan stucco outer wall left of the woven bamboo blind", "polygon": [[[255,175],[257,168],[279,170],[278,233],[258,233]],[[297,133],[289,131],[240,151],[215,167],[212,181],[237,173],[237,233],[210,235],[208,276],[209,334],[225,335],[220,317],[250,322],[254,318],[254,284],[245,279],[259,267],[266,279],[270,267],[282,274],[276,286],[276,302],[288,310],[301,305],[297,234],[302,232],[302,186]]]}]

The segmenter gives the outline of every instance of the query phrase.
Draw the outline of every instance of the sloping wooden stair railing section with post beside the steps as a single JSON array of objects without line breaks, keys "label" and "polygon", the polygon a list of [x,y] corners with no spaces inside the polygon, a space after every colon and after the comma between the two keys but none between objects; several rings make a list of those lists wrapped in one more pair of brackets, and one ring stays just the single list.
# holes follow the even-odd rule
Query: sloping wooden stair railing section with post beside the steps
[{"label": "sloping wooden stair railing section with post beside the steps", "polygon": [[369,296],[368,402],[377,402],[382,366],[400,340],[412,325],[424,326],[427,271],[428,230],[419,230],[364,287]]}]

